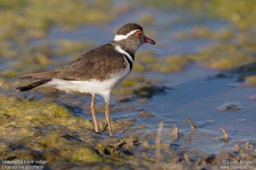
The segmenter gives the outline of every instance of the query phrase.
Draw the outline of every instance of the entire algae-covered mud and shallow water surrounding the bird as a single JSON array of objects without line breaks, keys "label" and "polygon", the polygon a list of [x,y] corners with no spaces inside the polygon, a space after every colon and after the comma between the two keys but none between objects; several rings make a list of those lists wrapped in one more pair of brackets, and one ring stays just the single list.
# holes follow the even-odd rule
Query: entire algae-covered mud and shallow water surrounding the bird
[{"label": "entire algae-covered mud and shallow water surrounding the bird", "polygon": [[[255,168],[255,7],[250,0],[1,1],[1,167]],[[113,138],[99,96],[100,135],[90,95],[13,92],[30,83],[18,76],[67,64],[129,22],[157,45],[138,50],[112,92]]]}]

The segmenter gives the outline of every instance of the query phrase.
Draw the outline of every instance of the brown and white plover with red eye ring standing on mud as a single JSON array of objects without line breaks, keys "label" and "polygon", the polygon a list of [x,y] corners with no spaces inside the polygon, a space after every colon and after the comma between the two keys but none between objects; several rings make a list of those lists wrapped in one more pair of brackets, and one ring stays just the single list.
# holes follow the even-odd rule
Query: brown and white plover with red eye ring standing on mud
[{"label": "brown and white plover with red eye ring standing on mud", "polygon": [[140,25],[125,24],[117,30],[113,41],[86,51],[65,66],[47,72],[20,76],[19,79],[38,79],[40,81],[14,88],[14,90],[19,92],[52,86],[67,93],[90,93],[92,95],[91,112],[97,134],[100,133],[94,98],[95,94],[100,95],[106,102],[105,115],[110,137],[113,137],[109,114],[110,93],[129,75],[135,52],[145,43],[156,44],[154,40],[145,36]]}]

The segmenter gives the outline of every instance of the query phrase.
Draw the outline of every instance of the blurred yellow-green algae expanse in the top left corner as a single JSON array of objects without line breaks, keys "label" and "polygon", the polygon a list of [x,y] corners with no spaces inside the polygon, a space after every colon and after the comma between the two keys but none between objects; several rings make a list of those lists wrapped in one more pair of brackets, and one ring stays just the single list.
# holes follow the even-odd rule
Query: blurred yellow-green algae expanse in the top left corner
[{"label": "blurred yellow-green algae expanse in the top left corner", "polygon": [[[48,29],[54,24],[65,30],[74,30],[81,24],[108,22],[115,18],[117,12],[114,5],[105,8],[105,3],[87,3],[84,1],[1,1],[0,38],[12,38],[18,42],[32,38],[45,37]],[[8,5],[7,5],[8,4]],[[97,4],[97,5],[96,5]],[[6,8],[8,6],[8,8]],[[109,15],[105,12],[111,11]],[[72,15],[70,15],[72,14]],[[20,32],[20,30],[24,30]],[[19,36],[21,34],[22,36]]]}]

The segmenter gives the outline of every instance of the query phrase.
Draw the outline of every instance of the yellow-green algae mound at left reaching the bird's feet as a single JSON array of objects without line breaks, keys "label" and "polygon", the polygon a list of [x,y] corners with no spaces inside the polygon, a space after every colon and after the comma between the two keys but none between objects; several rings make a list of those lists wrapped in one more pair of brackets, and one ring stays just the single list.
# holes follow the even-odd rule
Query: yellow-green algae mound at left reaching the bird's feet
[{"label": "yellow-green algae mound at left reaching the bird's feet", "polygon": [[[5,95],[4,95],[5,96]],[[7,97],[6,97],[7,98]],[[12,101],[12,98],[10,98]],[[72,112],[71,112],[72,113]],[[38,134],[35,129],[18,128],[18,127],[34,127],[45,129],[46,126],[60,126],[68,130],[94,130],[94,125],[88,120],[84,120],[77,116],[73,116],[65,107],[48,102],[15,102],[8,105],[0,105],[0,120],[2,128],[12,130],[13,133],[17,130],[24,133]],[[132,125],[131,122],[125,120],[111,120],[113,132],[119,129],[124,129]],[[108,123],[105,118],[98,119],[100,132],[108,131]],[[18,129],[17,129],[18,128]],[[26,132],[27,131],[27,132]],[[46,130],[47,131],[47,130]],[[6,135],[6,134],[4,134]]]}]

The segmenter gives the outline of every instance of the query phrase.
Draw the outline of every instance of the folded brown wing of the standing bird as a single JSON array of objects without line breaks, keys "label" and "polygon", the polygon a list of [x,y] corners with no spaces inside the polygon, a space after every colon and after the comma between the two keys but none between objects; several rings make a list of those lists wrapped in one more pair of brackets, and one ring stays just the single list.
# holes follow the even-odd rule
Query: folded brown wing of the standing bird
[{"label": "folded brown wing of the standing bird", "polygon": [[116,51],[112,44],[105,44],[85,52],[68,65],[48,72],[23,75],[19,79],[51,80],[52,78],[60,78],[64,80],[96,79],[103,81],[111,73],[125,67],[123,55]]}]

